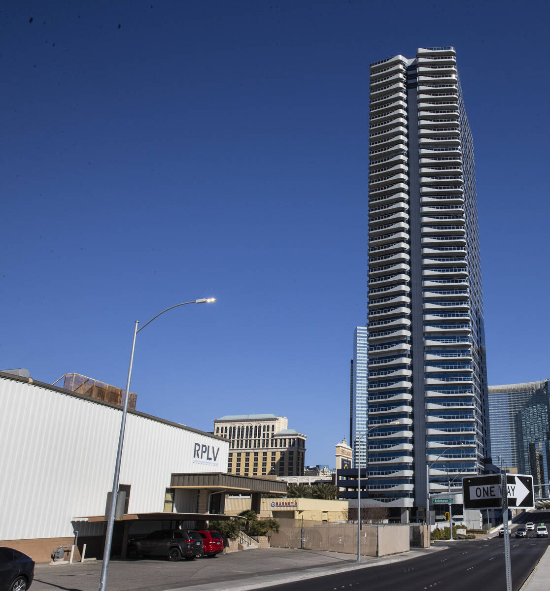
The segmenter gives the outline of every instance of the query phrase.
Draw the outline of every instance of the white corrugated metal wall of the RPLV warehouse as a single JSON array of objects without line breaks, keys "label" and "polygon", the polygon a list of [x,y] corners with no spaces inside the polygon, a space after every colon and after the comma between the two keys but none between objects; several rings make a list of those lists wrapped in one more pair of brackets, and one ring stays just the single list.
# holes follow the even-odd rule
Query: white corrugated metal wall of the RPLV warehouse
[{"label": "white corrugated metal wall of the RPLV warehouse", "polygon": [[[103,515],[117,454],[121,410],[0,378],[0,540],[66,537],[71,520]],[[219,448],[216,460],[196,444]],[[163,511],[172,473],[225,472],[228,443],[127,415],[120,483],[128,511]]]}]

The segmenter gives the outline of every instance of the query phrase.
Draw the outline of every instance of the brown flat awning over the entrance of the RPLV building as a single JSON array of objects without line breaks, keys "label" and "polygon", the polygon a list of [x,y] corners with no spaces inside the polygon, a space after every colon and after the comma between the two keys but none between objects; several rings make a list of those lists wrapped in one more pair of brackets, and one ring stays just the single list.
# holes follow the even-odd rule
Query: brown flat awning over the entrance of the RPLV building
[{"label": "brown flat awning over the entrance of the RPLV building", "polygon": [[258,476],[238,476],[227,472],[199,472],[172,474],[170,488],[209,489],[227,491],[231,495],[280,494],[286,495],[286,482]]}]

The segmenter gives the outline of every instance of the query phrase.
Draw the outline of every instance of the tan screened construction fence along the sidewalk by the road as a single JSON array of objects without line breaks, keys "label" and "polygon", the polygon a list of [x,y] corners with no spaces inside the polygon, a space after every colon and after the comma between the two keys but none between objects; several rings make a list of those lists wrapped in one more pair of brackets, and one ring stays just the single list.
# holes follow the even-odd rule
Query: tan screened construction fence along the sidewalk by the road
[{"label": "tan screened construction fence along the sidewalk by the road", "polygon": [[[357,554],[357,524],[308,521],[307,519],[278,519],[280,530],[271,534],[271,547],[328,550],[344,554]],[[424,546],[429,536],[426,531],[410,530],[408,524],[362,524],[361,554],[387,556],[406,552],[415,538]],[[417,526],[417,528],[425,526]],[[414,534],[414,535],[413,535]],[[422,538],[420,540],[420,538]]]}]

